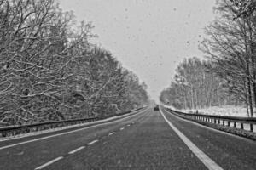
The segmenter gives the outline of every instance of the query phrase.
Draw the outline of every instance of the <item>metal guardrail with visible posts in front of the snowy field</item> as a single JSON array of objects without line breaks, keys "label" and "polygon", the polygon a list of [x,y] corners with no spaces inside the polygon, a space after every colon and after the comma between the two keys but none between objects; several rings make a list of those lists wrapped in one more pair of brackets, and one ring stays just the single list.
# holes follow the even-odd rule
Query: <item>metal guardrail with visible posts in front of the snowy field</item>
[{"label": "metal guardrail with visible posts in front of the snowy field", "polygon": [[[200,122],[210,122],[222,126],[234,127],[242,130],[248,130],[251,132],[256,132],[256,117],[238,117],[238,116],[213,116],[213,115],[203,115],[198,113],[184,113],[181,111],[173,111],[166,108],[167,111],[171,111],[177,116],[183,117],[185,119],[200,121]],[[247,127],[247,128],[245,128]]]}]

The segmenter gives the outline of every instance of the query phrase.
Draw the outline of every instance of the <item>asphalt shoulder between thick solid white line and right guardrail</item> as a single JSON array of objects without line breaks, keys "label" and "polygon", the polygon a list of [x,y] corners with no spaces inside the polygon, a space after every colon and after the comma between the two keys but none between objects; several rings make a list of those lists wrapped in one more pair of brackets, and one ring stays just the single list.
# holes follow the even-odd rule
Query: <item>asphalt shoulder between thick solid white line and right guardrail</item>
[{"label": "asphalt shoulder between thick solid white line and right guardrail", "polygon": [[164,109],[162,111],[181,133],[223,169],[256,169],[255,141],[184,120]]}]

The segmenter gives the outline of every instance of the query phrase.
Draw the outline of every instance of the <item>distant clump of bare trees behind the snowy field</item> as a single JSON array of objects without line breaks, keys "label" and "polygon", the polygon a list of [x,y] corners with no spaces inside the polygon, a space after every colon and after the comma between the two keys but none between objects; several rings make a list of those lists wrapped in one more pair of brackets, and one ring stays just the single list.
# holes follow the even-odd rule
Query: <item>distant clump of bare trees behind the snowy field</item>
[{"label": "distant clump of bare trees behind the snowy field", "polygon": [[198,58],[184,59],[177,66],[171,86],[160,94],[160,101],[177,109],[199,109],[239,104],[224,93],[224,81],[209,71],[212,64]]}]

